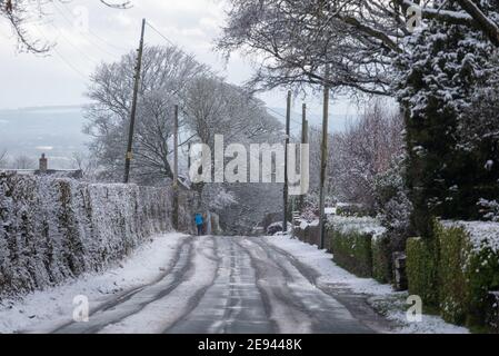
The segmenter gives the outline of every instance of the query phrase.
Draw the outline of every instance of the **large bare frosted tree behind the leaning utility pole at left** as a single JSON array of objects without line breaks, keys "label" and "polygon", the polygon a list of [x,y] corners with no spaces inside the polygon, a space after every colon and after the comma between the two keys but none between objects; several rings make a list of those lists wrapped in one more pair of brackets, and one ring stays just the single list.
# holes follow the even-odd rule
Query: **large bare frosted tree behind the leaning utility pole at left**
[{"label": "large bare frosted tree behind the leaning utility pole at left", "polygon": [[[122,176],[128,137],[136,53],[99,66],[91,77],[84,131],[93,137],[90,150],[104,168],[104,178]],[[208,68],[176,47],[146,47],[142,59],[131,176],[141,182],[172,177],[169,156],[173,106],[194,78]]]}]

